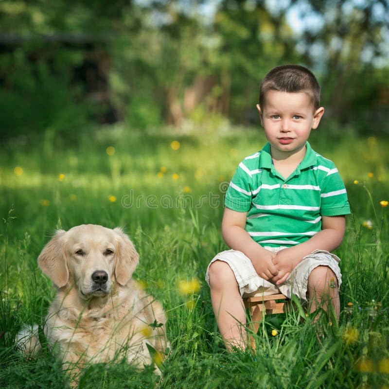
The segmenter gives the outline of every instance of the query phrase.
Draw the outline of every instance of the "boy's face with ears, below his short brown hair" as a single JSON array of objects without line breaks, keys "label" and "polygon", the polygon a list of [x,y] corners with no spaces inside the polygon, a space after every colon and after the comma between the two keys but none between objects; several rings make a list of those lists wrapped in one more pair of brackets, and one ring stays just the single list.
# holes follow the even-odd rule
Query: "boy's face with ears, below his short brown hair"
[{"label": "boy's face with ears, below his short brown hair", "polygon": [[318,127],[324,108],[314,110],[305,92],[269,90],[263,107],[257,105],[273,158],[305,153],[311,129]]}]

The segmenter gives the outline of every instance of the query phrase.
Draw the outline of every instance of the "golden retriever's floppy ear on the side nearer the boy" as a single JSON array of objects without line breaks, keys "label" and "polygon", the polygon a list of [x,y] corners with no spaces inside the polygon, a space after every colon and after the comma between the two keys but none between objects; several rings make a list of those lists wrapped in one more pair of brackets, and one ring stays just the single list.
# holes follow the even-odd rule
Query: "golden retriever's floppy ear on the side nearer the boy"
[{"label": "golden retriever's floppy ear on the side nearer the boy", "polygon": [[116,254],[115,278],[118,283],[125,285],[139,262],[139,254],[128,236],[119,227],[114,231],[118,235],[118,251]]}]

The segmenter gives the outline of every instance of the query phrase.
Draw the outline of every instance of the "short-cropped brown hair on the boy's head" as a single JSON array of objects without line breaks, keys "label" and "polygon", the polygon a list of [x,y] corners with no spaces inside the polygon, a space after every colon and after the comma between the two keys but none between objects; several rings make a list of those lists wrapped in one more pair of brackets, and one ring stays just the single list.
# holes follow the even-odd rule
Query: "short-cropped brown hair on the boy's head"
[{"label": "short-cropped brown hair on the boy's head", "polygon": [[259,88],[259,105],[265,104],[268,90],[281,92],[306,92],[311,97],[314,109],[320,106],[320,85],[312,71],[300,65],[282,65],[269,71]]}]

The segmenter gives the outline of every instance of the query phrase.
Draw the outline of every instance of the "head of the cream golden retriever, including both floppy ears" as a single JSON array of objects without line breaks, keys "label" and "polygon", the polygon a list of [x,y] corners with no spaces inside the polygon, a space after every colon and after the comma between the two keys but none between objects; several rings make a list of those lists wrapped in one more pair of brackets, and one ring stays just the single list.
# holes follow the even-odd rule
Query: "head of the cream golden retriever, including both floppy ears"
[{"label": "head of the cream golden retriever, including both floppy ears", "polygon": [[138,262],[120,228],[92,224],[57,230],[38,257],[39,267],[58,288],[75,284],[83,299],[106,296],[115,281],[128,283]]}]

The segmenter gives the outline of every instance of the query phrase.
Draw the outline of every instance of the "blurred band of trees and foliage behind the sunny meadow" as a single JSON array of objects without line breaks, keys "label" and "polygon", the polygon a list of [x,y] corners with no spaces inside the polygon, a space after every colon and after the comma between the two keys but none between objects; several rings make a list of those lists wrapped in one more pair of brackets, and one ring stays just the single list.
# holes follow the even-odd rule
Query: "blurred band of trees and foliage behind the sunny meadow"
[{"label": "blurred band of trees and foliage behind the sunny meadow", "polygon": [[3,0],[0,137],[258,123],[261,78],[285,63],[315,71],[339,124],[389,131],[388,18],[387,0]]}]

